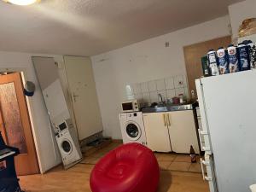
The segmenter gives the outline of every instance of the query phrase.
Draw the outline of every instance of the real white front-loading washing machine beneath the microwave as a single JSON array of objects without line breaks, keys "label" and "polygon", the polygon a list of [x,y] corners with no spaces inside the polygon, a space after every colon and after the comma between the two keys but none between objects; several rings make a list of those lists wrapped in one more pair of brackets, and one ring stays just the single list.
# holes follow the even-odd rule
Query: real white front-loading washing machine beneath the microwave
[{"label": "real white front-loading washing machine beneath the microwave", "polygon": [[142,112],[119,113],[119,122],[123,143],[141,143],[145,146],[147,145]]}]

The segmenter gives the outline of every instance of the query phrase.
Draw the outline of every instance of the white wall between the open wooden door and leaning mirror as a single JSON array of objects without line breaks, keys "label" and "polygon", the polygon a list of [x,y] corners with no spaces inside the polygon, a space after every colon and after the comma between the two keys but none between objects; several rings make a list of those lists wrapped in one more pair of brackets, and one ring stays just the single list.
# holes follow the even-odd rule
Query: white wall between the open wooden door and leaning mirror
[{"label": "white wall between the open wooden door and leaning mirror", "polygon": [[[61,55],[41,55],[52,56],[55,61],[63,62]],[[55,145],[47,110],[44,104],[42,92],[39,89],[38,79],[32,65],[32,54],[3,52],[0,51],[0,69],[15,68],[23,71],[25,80],[32,81],[36,84],[36,91],[34,96],[29,97],[29,107],[32,116],[32,131],[35,138],[36,149],[38,153],[38,160],[41,172],[45,172],[58,165],[61,162],[58,149]]]}]

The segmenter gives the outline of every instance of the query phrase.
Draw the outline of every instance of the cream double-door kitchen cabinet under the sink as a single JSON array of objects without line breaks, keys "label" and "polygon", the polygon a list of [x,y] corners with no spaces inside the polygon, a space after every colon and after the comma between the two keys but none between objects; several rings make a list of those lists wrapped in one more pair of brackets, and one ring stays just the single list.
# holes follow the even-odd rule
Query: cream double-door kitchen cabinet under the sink
[{"label": "cream double-door kitchen cabinet under the sink", "polygon": [[199,154],[193,110],[143,113],[148,148],[158,152],[189,154],[190,145]]}]

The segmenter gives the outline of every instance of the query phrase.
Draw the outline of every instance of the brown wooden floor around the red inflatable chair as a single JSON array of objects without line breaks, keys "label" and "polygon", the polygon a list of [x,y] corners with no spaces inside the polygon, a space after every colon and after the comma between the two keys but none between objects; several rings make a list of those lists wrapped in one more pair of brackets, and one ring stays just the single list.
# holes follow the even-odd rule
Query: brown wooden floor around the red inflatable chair
[{"label": "brown wooden floor around the red inflatable chair", "polygon": [[[90,192],[90,172],[94,164],[102,154],[113,149],[114,146],[116,144],[112,144],[108,148],[103,148],[101,153],[97,153],[98,157],[95,157],[96,154],[91,154],[89,157],[85,156],[83,162],[67,171],[63,170],[62,166],[58,166],[44,175],[20,177],[20,186],[28,192]],[[170,164],[172,163],[171,156],[166,156],[166,154],[156,154],[156,157],[159,162],[161,162],[160,160],[166,160],[167,164],[167,161],[170,160]],[[176,157],[177,162],[184,158]],[[208,184],[202,180],[201,173],[189,172],[189,169],[188,172],[177,172],[172,169],[165,169],[163,166],[165,165],[160,165],[160,185],[158,192],[209,192]],[[177,167],[178,169],[181,167],[181,170],[183,170],[183,166],[178,165]]]}]

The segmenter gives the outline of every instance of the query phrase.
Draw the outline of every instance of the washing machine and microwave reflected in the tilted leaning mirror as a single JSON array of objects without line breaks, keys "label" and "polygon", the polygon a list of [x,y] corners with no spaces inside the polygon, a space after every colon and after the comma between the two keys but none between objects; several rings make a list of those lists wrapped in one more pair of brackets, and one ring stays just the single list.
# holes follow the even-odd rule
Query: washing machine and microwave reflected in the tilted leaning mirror
[{"label": "washing machine and microwave reflected in the tilted leaning mirror", "polygon": [[58,129],[55,136],[56,141],[61,153],[63,166],[67,169],[82,160],[83,156],[79,148],[79,142],[74,137],[71,119],[66,119],[63,123],[57,125],[56,129]]}]

